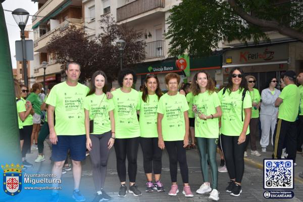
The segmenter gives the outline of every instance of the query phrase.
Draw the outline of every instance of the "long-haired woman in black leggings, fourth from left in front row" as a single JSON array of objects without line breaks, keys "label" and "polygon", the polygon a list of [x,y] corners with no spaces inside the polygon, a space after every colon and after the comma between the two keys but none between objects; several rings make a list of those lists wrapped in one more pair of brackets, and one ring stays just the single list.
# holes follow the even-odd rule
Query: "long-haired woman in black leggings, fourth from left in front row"
[{"label": "long-haired woman in black leggings, fourth from left in front row", "polygon": [[[162,149],[158,146],[157,132],[157,108],[162,91],[159,80],[155,74],[147,74],[142,92],[139,92],[140,100],[140,144],[143,152],[143,167],[146,175],[146,192],[163,192],[164,187],[160,182],[162,170]],[[153,184],[153,171],[155,183]]]}]

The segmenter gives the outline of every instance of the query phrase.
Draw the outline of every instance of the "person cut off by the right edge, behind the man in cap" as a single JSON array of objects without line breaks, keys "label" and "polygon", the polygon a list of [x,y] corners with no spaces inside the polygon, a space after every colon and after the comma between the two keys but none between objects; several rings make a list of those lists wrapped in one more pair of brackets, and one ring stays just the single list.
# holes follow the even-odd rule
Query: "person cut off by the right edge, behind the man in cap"
[{"label": "person cut off by the right edge, behind the man in cap", "polygon": [[303,143],[303,72],[299,73],[297,76],[297,82],[299,85],[298,89],[300,91],[300,107],[299,116],[297,120],[297,153],[302,153],[302,143]]}]

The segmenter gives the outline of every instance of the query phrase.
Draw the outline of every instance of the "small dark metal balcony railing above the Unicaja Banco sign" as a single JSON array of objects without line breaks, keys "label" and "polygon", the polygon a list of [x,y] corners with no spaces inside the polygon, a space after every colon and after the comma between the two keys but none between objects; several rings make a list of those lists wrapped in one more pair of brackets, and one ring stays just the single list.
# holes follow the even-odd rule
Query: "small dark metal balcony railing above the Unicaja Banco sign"
[{"label": "small dark metal balcony railing above the Unicaja Banco sign", "polygon": [[162,40],[147,42],[144,45],[145,58],[156,58],[164,56],[164,42]]}]

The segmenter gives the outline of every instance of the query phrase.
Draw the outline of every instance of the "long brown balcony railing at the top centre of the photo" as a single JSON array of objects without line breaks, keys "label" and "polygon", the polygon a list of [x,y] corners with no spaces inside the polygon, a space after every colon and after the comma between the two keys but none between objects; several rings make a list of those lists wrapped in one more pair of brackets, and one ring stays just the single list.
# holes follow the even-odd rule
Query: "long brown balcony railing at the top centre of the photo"
[{"label": "long brown balcony railing at the top centre of the photo", "polygon": [[156,8],[164,7],[164,0],[137,0],[117,9],[117,22]]}]

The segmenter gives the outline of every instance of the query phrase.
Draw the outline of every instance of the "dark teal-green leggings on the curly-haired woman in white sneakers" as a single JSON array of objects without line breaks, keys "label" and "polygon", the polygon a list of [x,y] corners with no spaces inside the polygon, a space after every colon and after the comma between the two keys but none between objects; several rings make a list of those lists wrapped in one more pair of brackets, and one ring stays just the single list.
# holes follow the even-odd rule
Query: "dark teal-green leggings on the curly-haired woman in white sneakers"
[{"label": "dark teal-green leggings on the curly-haired woman in white sneakers", "polygon": [[209,182],[207,160],[210,162],[213,189],[218,187],[218,166],[216,151],[218,138],[196,137],[201,158],[201,170],[204,182]]}]

